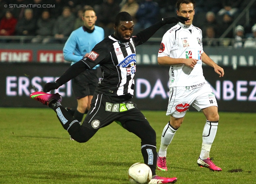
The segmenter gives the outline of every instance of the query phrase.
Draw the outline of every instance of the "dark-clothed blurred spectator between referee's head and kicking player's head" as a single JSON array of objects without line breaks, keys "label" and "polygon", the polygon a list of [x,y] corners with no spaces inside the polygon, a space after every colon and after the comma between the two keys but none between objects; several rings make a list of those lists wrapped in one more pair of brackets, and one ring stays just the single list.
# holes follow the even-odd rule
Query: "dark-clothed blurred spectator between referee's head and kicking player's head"
[{"label": "dark-clothed blurred spectator between referee's head and kicking player's head", "polygon": [[102,27],[105,35],[112,34],[116,15],[120,12],[119,4],[116,0],[104,0],[99,6],[97,14],[98,26]]}]

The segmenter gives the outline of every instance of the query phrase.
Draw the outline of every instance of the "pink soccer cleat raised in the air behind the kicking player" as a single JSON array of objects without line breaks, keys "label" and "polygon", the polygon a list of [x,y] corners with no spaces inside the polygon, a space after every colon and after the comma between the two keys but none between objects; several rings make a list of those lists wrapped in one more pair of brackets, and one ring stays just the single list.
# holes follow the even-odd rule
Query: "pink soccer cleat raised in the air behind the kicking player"
[{"label": "pink soccer cleat raised in the air behind the kicking player", "polygon": [[58,93],[48,94],[48,93],[39,92],[39,91],[31,93],[30,98],[37,100],[46,106],[49,106],[49,102],[51,102],[52,100],[57,100],[58,102],[62,101],[62,96],[60,96],[60,94]]}]

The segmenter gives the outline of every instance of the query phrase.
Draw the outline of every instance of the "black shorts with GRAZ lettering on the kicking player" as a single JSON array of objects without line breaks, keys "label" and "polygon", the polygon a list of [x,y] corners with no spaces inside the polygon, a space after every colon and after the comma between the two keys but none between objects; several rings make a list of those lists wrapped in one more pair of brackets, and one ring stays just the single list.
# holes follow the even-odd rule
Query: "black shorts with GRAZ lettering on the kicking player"
[{"label": "black shorts with GRAZ lettering on the kicking player", "polygon": [[148,120],[136,107],[136,104],[132,102],[131,97],[119,98],[95,92],[91,108],[82,126],[98,130],[113,121],[116,121],[116,123],[124,128],[126,128],[125,123],[128,121],[149,125]]}]

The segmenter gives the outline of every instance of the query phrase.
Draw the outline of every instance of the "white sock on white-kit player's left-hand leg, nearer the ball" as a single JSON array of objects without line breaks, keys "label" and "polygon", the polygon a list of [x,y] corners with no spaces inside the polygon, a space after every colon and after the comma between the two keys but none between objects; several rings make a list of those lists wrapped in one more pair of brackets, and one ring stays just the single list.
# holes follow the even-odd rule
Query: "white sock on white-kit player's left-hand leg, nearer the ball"
[{"label": "white sock on white-kit player's left-hand leg, nearer the ball", "polygon": [[169,125],[169,122],[167,123],[167,125],[165,125],[163,132],[162,132],[160,149],[158,151],[159,157],[166,157],[167,147],[172,142],[173,136],[176,131],[177,130],[173,129]]}]

